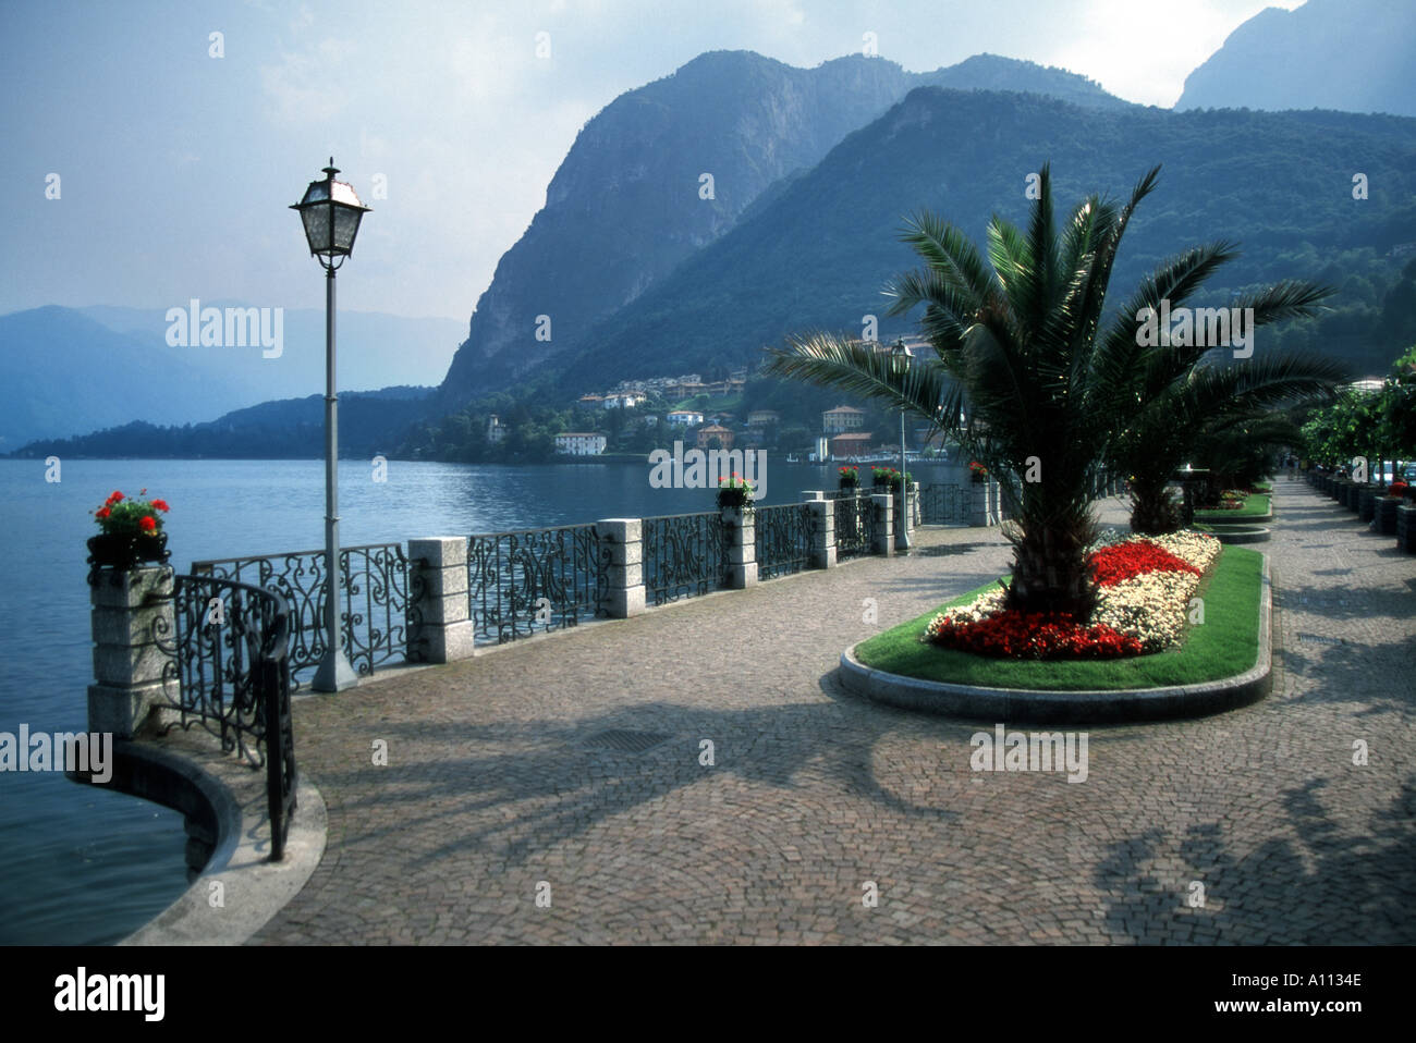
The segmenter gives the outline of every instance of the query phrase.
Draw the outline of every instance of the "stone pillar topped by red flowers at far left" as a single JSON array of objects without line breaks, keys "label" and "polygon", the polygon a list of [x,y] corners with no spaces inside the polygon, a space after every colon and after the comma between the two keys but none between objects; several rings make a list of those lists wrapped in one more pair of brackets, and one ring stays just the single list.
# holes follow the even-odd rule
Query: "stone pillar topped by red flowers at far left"
[{"label": "stone pillar topped by red flowers at far left", "polygon": [[133,569],[101,569],[89,587],[93,606],[93,684],[88,689],[89,732],[112,732],[132,739],[149,715],[164,703],[177,703],[181,688],[163,685],[163,668],[171,655],[157,638],[176,642],[173,570],[143,565]]}]

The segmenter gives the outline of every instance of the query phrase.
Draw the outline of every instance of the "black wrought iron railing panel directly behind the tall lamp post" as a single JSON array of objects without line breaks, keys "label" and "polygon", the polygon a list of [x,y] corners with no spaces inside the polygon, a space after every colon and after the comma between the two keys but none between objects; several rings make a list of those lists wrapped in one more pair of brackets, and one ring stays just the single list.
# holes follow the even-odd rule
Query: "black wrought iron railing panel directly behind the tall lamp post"
[{"label": "black wrought iron railing panel directly behind the tall lamp post", "polygon": [[[324,658],[324,551],[218,558],[193,562],[194,575],[275,590],[290,604],[290,671],[310,671]],[[340,551],[340,626],[344,652],[360,674],[408,657],[421,621],[422,580],[408,567],[401,543],[365,543]],[[416,644],[416,641],[415,641]],[[296,688],[300,686],[299,676]]]}]

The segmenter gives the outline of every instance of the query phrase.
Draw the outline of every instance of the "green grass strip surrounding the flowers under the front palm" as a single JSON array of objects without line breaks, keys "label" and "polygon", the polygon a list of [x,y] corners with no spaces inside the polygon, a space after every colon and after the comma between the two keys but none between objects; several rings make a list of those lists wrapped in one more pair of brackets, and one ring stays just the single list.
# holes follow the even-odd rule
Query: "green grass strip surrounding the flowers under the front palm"
[{"label": "green grass strip surrounding the flowers under the front palm", "polygon": [[[1262,579],[1263,555],[1242,546],[1223,548],[1218,565],[1199,586],[1198,597],[1205,604],[1204,624],[1191,626],[1180,648],[1154,655],[1127,659],[991,659],[920,640],[935,617],[930,611],[855,645],[855,658],[891,674],[987,688],[1075,692],[1219,681],[1250,669],[1257,659]],[[991,586],[970,590],[940,609],[966,604]]]}]

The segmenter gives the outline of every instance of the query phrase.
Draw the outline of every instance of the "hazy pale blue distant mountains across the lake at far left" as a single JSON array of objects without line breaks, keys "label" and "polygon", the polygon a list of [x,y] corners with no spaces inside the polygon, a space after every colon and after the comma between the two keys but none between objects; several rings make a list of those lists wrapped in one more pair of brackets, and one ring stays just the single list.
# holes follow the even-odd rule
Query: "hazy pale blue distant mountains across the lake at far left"
[{"label": "hazy pale blue distant mountains across the lake at far left", "polygon": [[[187,301],[183,301],[187,306]],[[202,301],[207,307],[238,307]],[[173,347],[166,310],[47,306],[0,316],[0,453],[142,419],[181,425],[324,389],[324,313],[282,310],[279,357],[248,347]],[[272,341],[275,321],[270,321]],[[460,324],[338,316],[338,386],[433,384]]]}]

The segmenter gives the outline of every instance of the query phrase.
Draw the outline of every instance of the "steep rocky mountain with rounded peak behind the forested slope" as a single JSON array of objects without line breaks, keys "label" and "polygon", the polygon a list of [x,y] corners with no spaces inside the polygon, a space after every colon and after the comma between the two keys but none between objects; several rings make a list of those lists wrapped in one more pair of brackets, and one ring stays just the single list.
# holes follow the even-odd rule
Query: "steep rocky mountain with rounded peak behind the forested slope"
[{"label": "steep rocky mountain with rounded peak behind the forested slope", "polygon": [[748,51],[700,55],[581,130],[545,207],[479,299],[439,405],[456,409],[565,355],[596,321],[733,228],[769,187],[935,82],[1130,108],[1082,76],[994,55],[929,74],[862,55],[814,69]]}]

